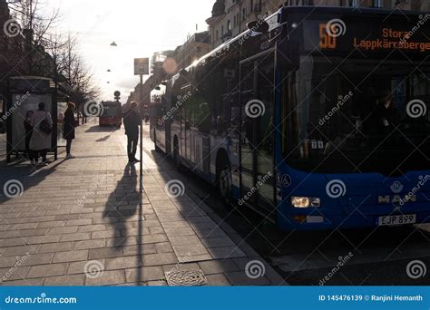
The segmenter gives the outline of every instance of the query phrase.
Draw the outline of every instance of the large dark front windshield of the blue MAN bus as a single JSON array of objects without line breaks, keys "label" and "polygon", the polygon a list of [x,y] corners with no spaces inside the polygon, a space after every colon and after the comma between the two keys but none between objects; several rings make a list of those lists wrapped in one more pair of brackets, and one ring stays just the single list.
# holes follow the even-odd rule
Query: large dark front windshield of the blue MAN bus
[{"label": "large dark front windshield of the blue MAN bus", "polygon": [[430,158],[430,65],[324,56],[286,77],[283,150],[298,170],[425,170]]}]

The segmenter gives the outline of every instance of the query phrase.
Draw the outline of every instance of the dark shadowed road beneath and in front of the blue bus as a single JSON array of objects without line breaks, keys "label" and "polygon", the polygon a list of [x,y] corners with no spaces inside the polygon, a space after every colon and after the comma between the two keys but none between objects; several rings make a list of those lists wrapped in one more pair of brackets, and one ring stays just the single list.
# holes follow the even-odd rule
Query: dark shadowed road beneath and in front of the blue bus
[{"label": "dark shadowed road beneath and in front of the blue bus", "polygon": [[249,209],[225,208],[216,190],[209,184],[191,172],[179,173],[170,159],[154,150],[148,130],[145,127],[144,161],[147,169],[161,169],[172,179],[180,179],[186,184],[187,190],[209,205],[261,257],[266,258],[289,285],[428,285],[429,273],[415,279],[412,278],[414,275],[408,276],[406,271],[408,264],[415,260],[424,263],[420,265],[424,268],[430,266],[430,225],[281,232],[273,224],[261,222],[262,218]]}]

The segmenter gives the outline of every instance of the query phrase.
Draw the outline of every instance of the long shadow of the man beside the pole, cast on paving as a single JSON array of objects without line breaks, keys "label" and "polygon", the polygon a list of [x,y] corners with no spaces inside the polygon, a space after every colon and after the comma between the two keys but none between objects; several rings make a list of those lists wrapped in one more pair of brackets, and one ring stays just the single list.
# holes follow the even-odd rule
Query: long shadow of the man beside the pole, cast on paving
[{"label": "long shadow of the man beside the pole, cast on paving", "polygon": [[106,202],[103,218],[109,218],[115,232],[113,247],[120,250],[127,244],[127,223],[140,205],[140,192],[137,189],[139,176],[132,164],[127,164],[120,179]]}]

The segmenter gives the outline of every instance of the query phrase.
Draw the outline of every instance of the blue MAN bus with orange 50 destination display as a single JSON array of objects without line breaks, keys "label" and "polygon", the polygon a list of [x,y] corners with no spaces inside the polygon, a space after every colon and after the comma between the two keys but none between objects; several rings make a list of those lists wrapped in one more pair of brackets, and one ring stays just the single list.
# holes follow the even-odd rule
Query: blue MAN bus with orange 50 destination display
[{"label": "blue MAN bus with orange 50 destination display", "polygon": [[430,222],[430,15],[284,7],[168,82],[156,147],[278,228]]}]

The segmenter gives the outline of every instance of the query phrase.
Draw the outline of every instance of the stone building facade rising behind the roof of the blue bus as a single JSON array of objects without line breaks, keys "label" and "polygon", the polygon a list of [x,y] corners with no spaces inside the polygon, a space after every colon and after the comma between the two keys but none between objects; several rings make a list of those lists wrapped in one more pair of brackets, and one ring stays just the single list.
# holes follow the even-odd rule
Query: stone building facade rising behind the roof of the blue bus
[{"label": "stone building facade rising behind the roof of the blue bus", "polygon": [[211,48],[216,48],[242,33],[247,30],[249,22],[275,13],[283,5],[376,7],[430,11],[430,0],[217,0],[213,5],[212,15],[206,20],[209,25]]}]

